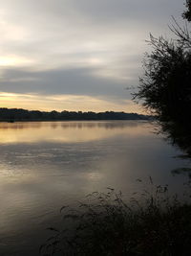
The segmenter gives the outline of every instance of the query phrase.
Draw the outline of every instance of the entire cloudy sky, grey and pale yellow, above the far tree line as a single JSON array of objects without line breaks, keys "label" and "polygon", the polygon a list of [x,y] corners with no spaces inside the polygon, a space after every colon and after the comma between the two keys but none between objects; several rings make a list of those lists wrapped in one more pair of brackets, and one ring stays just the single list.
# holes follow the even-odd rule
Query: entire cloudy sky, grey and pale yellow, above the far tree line
[{"label": "entire cloudy sky, grey and pale yellow, above the far tree line", "polygon": [[[149,34],[183,0],[0,0],[0,107],[142,113],[132,101]],[[135,89],[126,89],[135,88]]]}]

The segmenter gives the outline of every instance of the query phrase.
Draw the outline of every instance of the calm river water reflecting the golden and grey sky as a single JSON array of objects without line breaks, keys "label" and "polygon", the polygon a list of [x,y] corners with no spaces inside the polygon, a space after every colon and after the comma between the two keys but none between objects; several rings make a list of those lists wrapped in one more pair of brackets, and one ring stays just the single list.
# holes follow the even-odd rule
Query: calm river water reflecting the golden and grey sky
[{"label": "calm river water reflecting the golden and grey sky", "polygon": [[106,187],[138,190],[137,178],[182,191],[187,167],[147,122],[0,124],[0,255],[38,255],[59,208]]}]

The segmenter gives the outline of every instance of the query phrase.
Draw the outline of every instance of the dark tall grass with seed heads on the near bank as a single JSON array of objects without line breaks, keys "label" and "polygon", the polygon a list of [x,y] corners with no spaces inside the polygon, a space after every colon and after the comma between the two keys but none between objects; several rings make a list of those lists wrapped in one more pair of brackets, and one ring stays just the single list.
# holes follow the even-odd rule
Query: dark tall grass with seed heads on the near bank
[{"label": "dark tall grass with seed heads on the near bank", "polygon": [[[136,197],[136,196],[135,196]],[[41,255],[188,256],[191,252],[191,205],[168,196],[167,186],[143,191],[128,203],[121,192],[88,195],[77,208],[63,206],[59,228]]]}]

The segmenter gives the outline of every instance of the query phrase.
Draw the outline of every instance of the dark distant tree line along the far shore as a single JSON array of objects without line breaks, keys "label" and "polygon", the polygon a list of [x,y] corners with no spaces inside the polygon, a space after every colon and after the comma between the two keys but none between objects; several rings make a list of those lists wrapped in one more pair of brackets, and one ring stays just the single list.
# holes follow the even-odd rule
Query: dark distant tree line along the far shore
[{"label": "dark distant tree line along the far shore", "polygon": [[148,120],[150,116],[138,113],[106,111],[95,113],[92,111],[62,111],[51,112],[26,110],[21,108],[0,108],[0,121],[64,121],[64,120]]}]

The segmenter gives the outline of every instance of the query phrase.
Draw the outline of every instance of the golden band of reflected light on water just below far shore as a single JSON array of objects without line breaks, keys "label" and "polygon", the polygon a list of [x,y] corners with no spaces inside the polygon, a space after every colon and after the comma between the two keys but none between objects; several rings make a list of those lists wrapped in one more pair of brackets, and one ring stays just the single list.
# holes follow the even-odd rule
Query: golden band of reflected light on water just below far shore
[{"label": "golden band of reflected light on water just below far shore", "polygon": [[[137,136],[145,122],[29,122],[0,123],[0,144],[39,142],[89,142],[117,134]],[[144,130],[147,132],[147,129]]]}]

